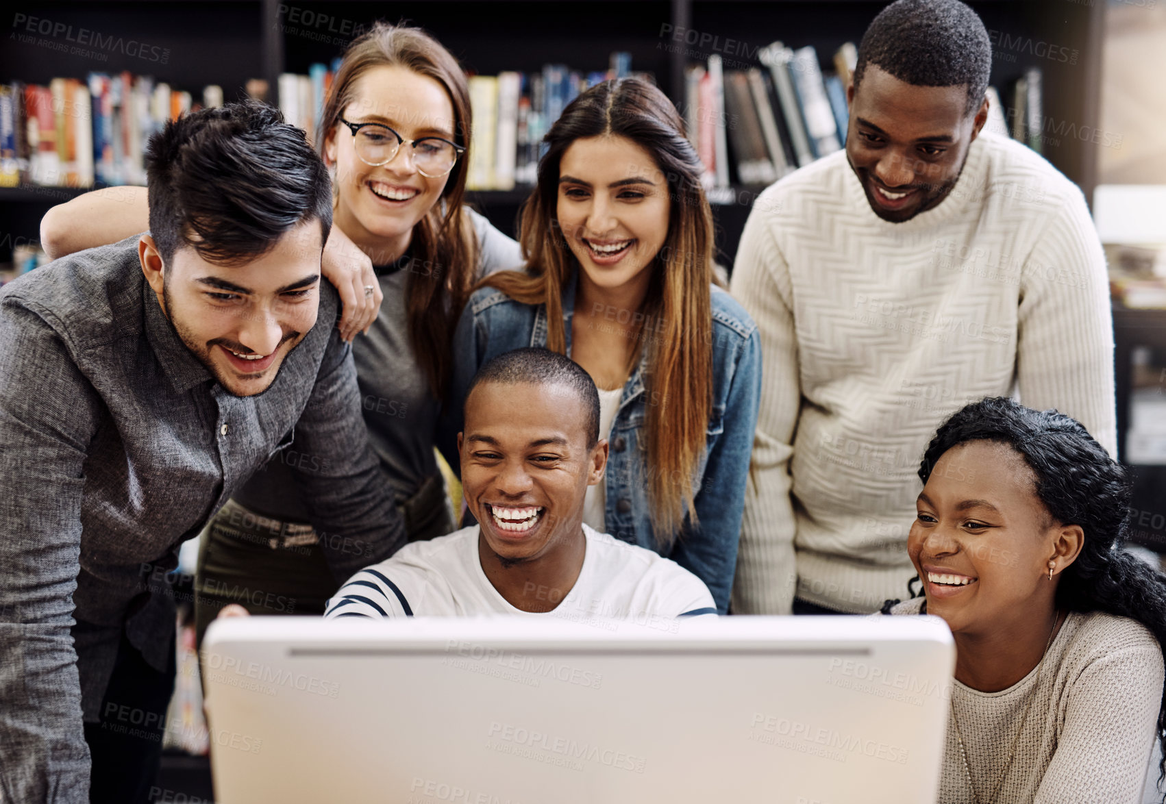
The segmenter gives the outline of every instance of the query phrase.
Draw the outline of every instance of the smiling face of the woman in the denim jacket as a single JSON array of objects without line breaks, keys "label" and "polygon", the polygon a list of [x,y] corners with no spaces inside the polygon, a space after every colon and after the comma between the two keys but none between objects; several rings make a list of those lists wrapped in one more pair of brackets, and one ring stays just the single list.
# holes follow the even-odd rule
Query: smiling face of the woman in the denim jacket
[{"label": "smiling face of the woman in the denim jacket", "polygon": [[576,140],[559,165],[556,217],[583,282],[646,291],[668,238],[668,184],[652,155],[631,140]]}]

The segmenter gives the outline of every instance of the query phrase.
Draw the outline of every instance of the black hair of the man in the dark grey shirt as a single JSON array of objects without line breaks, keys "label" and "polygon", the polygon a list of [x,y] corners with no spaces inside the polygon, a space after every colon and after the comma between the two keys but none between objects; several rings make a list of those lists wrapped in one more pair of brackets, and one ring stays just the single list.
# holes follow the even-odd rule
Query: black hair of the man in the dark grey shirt
[{"label": "black hair of the man in the dark grey shirt", "polygon": [[271,249],[305,220],[332,226],[328,170],[298,128],[255,100],[171,120],[146,148],[149,227],[164,265],[191,246],[232,265]]}]

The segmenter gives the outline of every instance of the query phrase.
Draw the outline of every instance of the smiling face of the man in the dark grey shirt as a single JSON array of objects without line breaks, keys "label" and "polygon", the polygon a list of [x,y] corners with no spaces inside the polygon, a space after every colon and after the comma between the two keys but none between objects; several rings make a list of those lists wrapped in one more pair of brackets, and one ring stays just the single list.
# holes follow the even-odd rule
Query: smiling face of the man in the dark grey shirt
[{"label": "smiling face of the man in the dark grey shirt", "polygon": [[319,221],[307,220],[245,265],[206,262],[183,247],[163,274],[149,237],[139,258],[187,348],[229,394],[254,396],[316,323],[322,249]]}]

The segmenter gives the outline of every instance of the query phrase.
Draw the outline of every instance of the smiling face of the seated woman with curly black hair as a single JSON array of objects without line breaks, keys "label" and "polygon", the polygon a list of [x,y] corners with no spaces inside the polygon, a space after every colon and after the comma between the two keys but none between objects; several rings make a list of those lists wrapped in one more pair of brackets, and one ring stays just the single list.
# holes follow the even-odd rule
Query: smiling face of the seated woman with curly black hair
[{"label": "smiling face of the seated woman with curly black hair", "polygon": [[1049,516],[1035,475],[1012,447],[969,442],[948,450],[915,505],[907,552],[928,614],[975,635],[1052,607],[1048,562],[1055,574],[1068,566],[1081,529]]}]

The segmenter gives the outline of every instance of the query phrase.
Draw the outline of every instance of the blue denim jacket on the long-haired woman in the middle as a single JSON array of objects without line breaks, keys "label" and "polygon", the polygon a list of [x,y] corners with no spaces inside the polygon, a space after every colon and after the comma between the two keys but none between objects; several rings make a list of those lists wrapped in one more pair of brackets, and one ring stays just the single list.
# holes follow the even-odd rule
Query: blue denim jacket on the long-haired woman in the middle
[{"label": "blue denim jacket on the long-haired woman in the middle", "polygon": [[[576,280],[563,289],[563,327],[571,352]],[[614,324],[614,322],[613,322]],[[547,345],[546,305],[515,302],[494,288],[471,296],[454,337],[454,374],[448,433],[462,429],[462,405],[473,375],[487,360],[524,346]],[[606,531],[668,558],[704,581],[722,614],[729,607],[737,564],[745,482],[761,393],[761,347],[757,325],[721,288],[712,288],[712,410],[708,442],[694,484],[700,527],[686,517],[670,548],[656,544],[648,505],[644,461],[648,396],[646,358],[624,386],[610,433],[606,482]],[[606,435],[606,433],[602,433]]]}]

